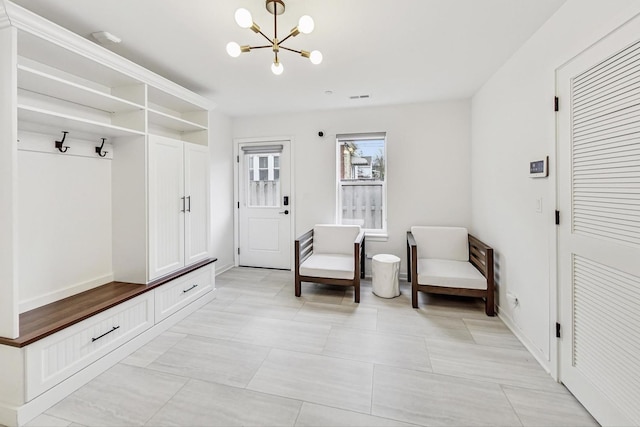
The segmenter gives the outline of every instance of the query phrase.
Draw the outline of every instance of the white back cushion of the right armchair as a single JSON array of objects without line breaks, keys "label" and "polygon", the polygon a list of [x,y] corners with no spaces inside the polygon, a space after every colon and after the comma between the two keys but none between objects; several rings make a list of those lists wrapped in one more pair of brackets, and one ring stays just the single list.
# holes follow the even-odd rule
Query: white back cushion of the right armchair
[{"label": "white back cushion of the right armchair", "polygon": [[469,261],[468,232],[464,227],[411,227],[418,259]]}]

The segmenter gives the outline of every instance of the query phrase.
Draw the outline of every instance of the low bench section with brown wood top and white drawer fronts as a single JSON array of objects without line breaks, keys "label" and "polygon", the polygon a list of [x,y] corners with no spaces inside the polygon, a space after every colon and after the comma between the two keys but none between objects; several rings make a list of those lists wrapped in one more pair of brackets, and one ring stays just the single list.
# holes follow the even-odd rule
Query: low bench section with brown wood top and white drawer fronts
[{"label": "low bench section with brown wood top and white drawer fronts", "polygon": [[0,338],[5,357],[13,353],[11,359],[20,360],[14,368],[22,366],[3,372],[0,394],[24,395],[25,418],[44,411],[211,301],[214,262],[207,259],[148,285],[107,283],[22,313],[20,336]]}]

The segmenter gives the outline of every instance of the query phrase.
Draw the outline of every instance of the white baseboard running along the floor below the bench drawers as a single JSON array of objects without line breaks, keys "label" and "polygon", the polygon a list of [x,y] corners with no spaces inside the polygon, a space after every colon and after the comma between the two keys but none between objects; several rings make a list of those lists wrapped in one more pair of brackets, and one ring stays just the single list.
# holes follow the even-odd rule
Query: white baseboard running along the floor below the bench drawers
[{"label": "white baseboard running along the floor below the bench drawers", "polygon": [[127,341],[125,344],[113,350],[106,356],[98,359],[91,365],[62,381],[60,384],[52,387],[36,398],[30,400],[21,406],[7,405],[0,402],[0,424],[7,426],[21,426],[47,409],[63,400],[65,397],[105,372],[107,369],[116,365],[134,351],[165,332],[167,329],[186,318],[191,313],[201,308],[205,304],[216,298],[216,289],[203,295],[201,298],[193,301],[182,310],[172,314],[161,322],[156,323],[151,328],[142,332],[135,338]]}]

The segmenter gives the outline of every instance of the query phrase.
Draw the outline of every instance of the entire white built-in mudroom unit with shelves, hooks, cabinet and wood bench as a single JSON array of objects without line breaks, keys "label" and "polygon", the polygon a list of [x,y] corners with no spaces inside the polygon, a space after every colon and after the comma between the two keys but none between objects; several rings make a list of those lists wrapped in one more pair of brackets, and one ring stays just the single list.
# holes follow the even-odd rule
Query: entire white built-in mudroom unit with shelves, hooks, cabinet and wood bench
[{"label": "entire white built-in mudroom unit with shelves, hooks, cabinet and wood bench", "polygon": [[0,93],[0,424],[13,426],[215,298],[214,105],[8,0]]}]

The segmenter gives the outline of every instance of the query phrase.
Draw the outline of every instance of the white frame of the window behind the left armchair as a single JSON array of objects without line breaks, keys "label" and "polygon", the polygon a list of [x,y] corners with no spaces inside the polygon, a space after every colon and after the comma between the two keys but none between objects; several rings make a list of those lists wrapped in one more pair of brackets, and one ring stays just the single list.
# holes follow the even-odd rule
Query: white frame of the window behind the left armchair
[{"label": "white frame of the window behind the left armchair", "polygon": [[[387,145],[388,137],[386,132],[370,132],[370,133],[345,133],[336,135],[336,224],[342,224],[342,188],[345,185],[342,180],[342,146],[348,141],[371,141],[371,140],[383,141],[383,161],[384,161],[384,179],[382,181],[360,181],[360,185],[377,185],[382,183],[382,228],[362,228],[365,231],[365,235],[369,240],[386,241],[388,239],[388,225],[387,225],[387,186],[388,186],[388,164],[387,161]],[[352,184],[357,185],[358,181],[354,181]]]}]

